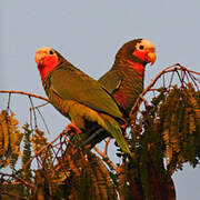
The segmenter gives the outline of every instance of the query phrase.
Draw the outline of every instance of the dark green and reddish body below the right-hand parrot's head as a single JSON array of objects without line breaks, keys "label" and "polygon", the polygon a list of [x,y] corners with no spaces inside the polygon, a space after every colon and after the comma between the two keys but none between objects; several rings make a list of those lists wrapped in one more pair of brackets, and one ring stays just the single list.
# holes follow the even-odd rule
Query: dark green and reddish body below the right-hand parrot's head
[{"label": "dark green and reddish body below the right-hand parrot's head", "polygon": [[99,82],[112,93],[127,116],[143,91],[143,79],[139,78],[138,72],[128,62],[116,63]]}]

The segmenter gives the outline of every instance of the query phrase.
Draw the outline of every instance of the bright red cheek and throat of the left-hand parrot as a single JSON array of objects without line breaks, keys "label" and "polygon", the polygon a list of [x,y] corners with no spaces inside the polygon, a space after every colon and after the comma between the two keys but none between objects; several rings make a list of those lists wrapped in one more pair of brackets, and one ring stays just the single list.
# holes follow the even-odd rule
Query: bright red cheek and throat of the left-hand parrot
[{"label": "bright red cheek and throat of the left-hand parrot", "polygon": [[40,72],[42,84],[48,73],[59,64],[58,58],[54,56],[46,57],[42,62],[38,63],[38,70]]}]

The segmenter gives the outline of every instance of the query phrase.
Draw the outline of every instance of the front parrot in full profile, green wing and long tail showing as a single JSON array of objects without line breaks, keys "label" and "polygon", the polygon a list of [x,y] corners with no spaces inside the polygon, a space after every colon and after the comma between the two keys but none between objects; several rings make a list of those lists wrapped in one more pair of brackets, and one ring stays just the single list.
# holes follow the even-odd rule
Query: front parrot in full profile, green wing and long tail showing
[{"label": "front parrot in full profile, green wing and long tail showing", "polygon": [[118,122],[124,121],[123,116],[97,80],[73,67],[52,48],[40,48],[36,52],[36,62],[51,104],[71,120],[67,130],[76,130],[84,141],[90,137],[86,131],[90,127],[103,128],[123,152],[131,154]]}]

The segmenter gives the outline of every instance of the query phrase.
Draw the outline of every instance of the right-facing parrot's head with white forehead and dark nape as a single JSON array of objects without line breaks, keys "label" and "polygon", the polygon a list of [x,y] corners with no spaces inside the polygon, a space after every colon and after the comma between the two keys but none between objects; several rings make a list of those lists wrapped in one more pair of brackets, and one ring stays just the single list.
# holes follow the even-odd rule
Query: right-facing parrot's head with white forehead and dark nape
[{"label": "right-facing parrot's head with white forehead and dark nape", "polygon": [[[136,39],[124,43],[116,54],[116,63],[122,63],[122,68],[130,66],[140,73],[140,78],[144,74],[147,63],[151,66],[156,61],[154,44],[146,39]],[[128,63],[128,64],[124,64]],[[117,64],[118,66],[118,64]]]}]

